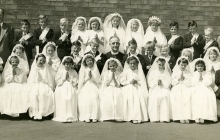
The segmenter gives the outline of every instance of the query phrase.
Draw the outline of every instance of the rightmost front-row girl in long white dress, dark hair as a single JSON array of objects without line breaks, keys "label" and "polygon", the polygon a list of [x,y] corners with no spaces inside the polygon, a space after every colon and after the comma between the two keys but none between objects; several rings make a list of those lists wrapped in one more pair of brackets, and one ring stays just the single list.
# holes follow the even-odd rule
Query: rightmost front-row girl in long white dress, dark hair
[{"label": "rightmost front-row girl in long white dress, dark hair", "polygon": [[211,84],[212,75],[206,71],[205,62],[201,58],[196,59],[192,75],[192,119],[196,123],[217,121],[216,97]]}]

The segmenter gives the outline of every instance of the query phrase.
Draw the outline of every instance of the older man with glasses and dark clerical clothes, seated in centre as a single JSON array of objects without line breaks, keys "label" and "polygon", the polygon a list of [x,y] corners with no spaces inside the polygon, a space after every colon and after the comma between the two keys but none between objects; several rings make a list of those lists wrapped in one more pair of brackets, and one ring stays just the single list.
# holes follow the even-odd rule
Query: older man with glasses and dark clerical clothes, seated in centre
[{"label": "older man with glasses and dark clerical clothes, seated in centre", "polygon": [[118,59],[122,63],[124,54],[119,52],[120,39],[117,36],[110,37],[109,45],[111,47],[111,51],[106,53],[107,59],[115,58],[115,59]]}]

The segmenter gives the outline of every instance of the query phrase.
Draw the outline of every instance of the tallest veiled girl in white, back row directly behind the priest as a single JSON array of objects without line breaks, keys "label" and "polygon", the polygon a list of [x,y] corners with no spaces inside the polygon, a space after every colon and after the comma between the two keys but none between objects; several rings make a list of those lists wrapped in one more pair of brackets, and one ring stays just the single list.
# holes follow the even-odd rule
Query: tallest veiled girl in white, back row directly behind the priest
[{"label": "tallest veiled girl in white, back row directly behind the priest", "polygon": [[125,23],[122,16],[118,13],[108,15],[104,21],[105,53],[111,50],[109,46],[110,37],[116,35],[120,39],[119,51],[124,53],[127,44],[125,39]]}]

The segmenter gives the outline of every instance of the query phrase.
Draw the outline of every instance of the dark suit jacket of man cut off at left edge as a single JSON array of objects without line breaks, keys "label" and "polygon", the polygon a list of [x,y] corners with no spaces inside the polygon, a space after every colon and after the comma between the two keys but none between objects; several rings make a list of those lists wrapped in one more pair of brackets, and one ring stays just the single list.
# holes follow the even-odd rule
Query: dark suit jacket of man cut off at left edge
[{"label": "dark suit jacket of man cut off at left edge", "polygon": [[0,35],[0,57],[2,58],[4,64],[6,63],[9,55],[13,48],[13,39],[14,39],[14,28],[4,23],[2,24],[1,35]]}]

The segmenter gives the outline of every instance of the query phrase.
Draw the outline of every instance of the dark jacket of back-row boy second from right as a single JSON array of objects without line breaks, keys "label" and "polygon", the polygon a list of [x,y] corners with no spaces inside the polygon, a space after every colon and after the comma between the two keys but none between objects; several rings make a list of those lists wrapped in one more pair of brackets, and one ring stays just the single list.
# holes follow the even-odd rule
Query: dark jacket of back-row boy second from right
[{"label": "dark jacket of back-row boy second from right", "polygon": [[196,41],[197,44],[192,46],[191,45],[192,37],[193,36],[191,33],[184,35],[183,47],[184,48],[193,47],[193,49],[194,49],[193,59],[196,59],[196,58],[199,58],[203,53],[203,48],[205,46],[205,40],[202,35],[199,35],[197,38],[197,41]]}]

